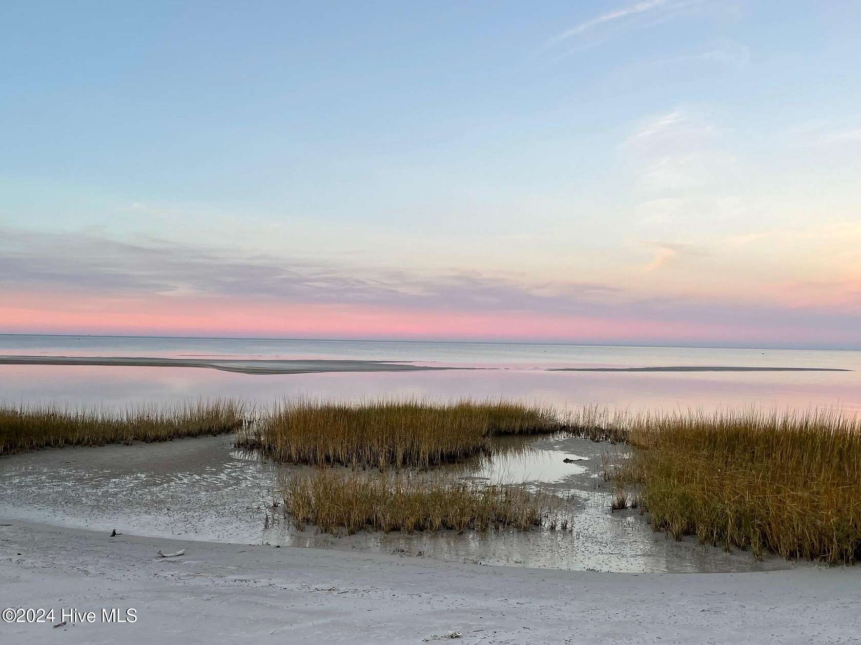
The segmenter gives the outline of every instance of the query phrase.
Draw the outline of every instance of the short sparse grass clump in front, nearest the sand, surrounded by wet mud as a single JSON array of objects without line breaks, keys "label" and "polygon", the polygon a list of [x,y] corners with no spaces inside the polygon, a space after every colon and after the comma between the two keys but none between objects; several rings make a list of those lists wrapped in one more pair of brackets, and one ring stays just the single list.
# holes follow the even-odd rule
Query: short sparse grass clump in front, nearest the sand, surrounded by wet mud
[{"label": "short sparse grass clump in front, nearest the sand, surrounded by wet mud", "polygon": [[463,531],[540,525],[541,509],[523,488],[440,478],[369,476],[315,470],[282,485],[284,514],[299,530],[306,524],[346,531]]}]

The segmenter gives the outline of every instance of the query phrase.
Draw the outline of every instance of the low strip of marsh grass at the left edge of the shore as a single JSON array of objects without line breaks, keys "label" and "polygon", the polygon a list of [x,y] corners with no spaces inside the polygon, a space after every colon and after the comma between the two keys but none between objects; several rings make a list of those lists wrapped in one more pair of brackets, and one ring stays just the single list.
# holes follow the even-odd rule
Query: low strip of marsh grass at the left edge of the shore
[{"label": "low strip of marsh grass at the left edge of the shore", "polygon": [[243,426],[245,411],[245,405],[230,399],[119,411],[0,407],[0,455],[64,445],[164,441],[231,433]]}]

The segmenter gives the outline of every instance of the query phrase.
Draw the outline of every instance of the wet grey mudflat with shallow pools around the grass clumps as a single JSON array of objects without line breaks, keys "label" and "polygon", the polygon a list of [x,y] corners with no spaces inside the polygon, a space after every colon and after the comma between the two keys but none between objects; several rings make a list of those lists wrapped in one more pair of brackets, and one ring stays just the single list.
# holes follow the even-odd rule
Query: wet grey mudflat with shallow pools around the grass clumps
[{"label": "wet grey mudflat with shallow pools around the grass clumps", "polygon": [[[566,530],[367,533],[296,531],[279,475],[302,470],[235,450],[231,436],[160,444],[34,451],[0,458],[0,517],[109,532],[239,544],[372,550],[405,557],[601,571],[720,572],[786,568],[655,533],[638,510],[610,512],[602,455],[621,446],[570,436],[506,439],[492,456],[440,472],[488,483],[529,482],[566,500]],[[573,463],[565,463],[570,458]],[[189,546],[193,548],[193,546]]]}]

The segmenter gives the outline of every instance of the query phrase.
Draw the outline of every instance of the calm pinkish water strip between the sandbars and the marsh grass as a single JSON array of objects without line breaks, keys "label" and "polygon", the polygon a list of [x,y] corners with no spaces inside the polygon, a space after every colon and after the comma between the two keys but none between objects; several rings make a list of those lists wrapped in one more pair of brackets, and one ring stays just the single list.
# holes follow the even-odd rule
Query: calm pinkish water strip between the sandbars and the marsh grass
[{"label": "calm pinkish water strip between the sandbars and the marsh grass", "polygon": [[841,406],[861,410],[861,372],[594,373],[498,370],[249,375],[182,367],[0,365],[0,401],[61,405],[177,402],[236,396],[356,400],[376,396],[493,398],[641,409]]}]

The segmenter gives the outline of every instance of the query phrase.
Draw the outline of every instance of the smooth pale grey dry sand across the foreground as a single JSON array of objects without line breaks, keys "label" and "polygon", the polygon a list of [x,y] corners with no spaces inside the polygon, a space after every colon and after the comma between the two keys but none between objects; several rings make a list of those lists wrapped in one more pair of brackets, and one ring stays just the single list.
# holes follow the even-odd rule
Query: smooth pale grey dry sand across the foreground
[{"label": "smooth pale grey dry sand across the foreground", "polygon": [[0,624],[4,643],[849,643],[859,593],[861,568],[598,574],[0,526],[0,605],[97,614]]}]

